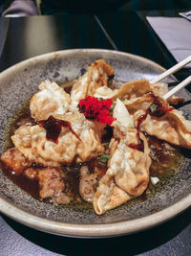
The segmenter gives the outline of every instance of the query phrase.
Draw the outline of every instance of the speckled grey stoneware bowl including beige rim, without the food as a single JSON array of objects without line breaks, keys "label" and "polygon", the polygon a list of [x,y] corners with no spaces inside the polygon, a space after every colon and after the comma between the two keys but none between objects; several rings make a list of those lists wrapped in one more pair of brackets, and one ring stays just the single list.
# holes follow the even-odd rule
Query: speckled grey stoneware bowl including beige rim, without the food
[{"label": "speckled grey stoneware bowl including beige rim, without the food", "polygon": [[[10,120],[47,79],[58,84],[81,76],[89,63],[105,59],[115,69],[118,81],[152,80],[164,68],[146,58],[99,49],[75,49],[46,54],[22,61],[0,74],[0,151],[7,147]],[[175,81],[174,78],[168,82]],[[180,92],[185,102],[190,95]],[[182,105],[190,120],[189,105]],[[156,186],[145,200],[137,198],[102,216],[90,207],[54,206],[33,199],[0,172],[0,211],[15,221],[45,232],[80,238],[113,237],[135,233],[172,219],[191,205],[190,152],[180,168]],[[162,184],[161,184],[162,183]]]}]

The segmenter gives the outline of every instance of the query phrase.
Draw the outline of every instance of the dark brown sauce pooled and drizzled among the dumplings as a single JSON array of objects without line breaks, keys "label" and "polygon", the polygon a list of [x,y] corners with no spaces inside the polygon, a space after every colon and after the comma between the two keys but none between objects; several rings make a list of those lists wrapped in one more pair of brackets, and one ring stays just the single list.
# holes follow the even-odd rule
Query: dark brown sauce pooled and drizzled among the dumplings
[{"label": "dark brown sauce pooled and drizzled among the dumplings", "polygon": [[[153,97],[153,99],[154,99],[153,104],[158,105],[157,109],[159,110],[159,114],[161,114],[161,113],[165,114],[166,112],[173,110],[172,108],[163,107],[162,105],[160,105],[158,103],[159,99],[155,98],[152,95],[151,95],[151,97]],[[162,111],[161,111],[161,109],[162,109]],[[146,116],[148,113],[150,114],[149,110],[147,111],[147,113],[145,115],[142,115],[138,118],[138,127],[137,127],[138,128],[138,134],[137,134],[138,144],[131,145],[132,148],[134,147],[138,151],[143,151],[143,149],[142,149],[143,142],[139,138],[139,128],[140,128],[140,125],[143,122],[143,120],[146,119]],[[155,112],[152,114],[153,115],[158,114],[158,112]],[[23,107],[23,109],[16,115],[16,117],[11,121],[11,124],[9,125],[9,130],[8,130],[8,135],[7,135],[8,148],[12,147],[10,137],[11,137],[11,134],[13,133],[13,130],[18,128],[18,125],[17,125],[18,121],[20,123],[20,122],[25,122],[25,120],[28,120],[27,122],[32,122],[32,124],[34,124],[34,121],[32,120],[32,118],[30,116],[29,104],[25,105]],[[62,121],[62,122],[60,122],[60,121]],[[55,129],[57,129],[56,131],[52,130],[52,125],[54,128],[56,127],[55,128]],[[71,125],[69,122],[66,122],[63,120],[53,120],[52,118],[51,118],[49,124],[45,123],[44,121],[41,121],[41,126],[44,128],[46,127],[47,131],[49,130],[47,132],[47,133],[49,133],[48,137],[50,139],[52,139],[55,143],[57,141],[58,133],[60,132],[60,129],[62,127],[71,128]],[[73,132],[73,130],[71,130],[71,131]],[[111,133],[111,134],[110,134],[109,138],[104,138],[105,141],[109,141],[110,138],[112,137],[112,135],[113,135],[112,128],[109,133]],[[156,139],[154,137],[146,136],[146,138],[147,138],[147,141],[148,141],[150,147],[155,146],[155,149],[152,150],[153,155],[151,156],[152,157],[152,165],[150,168],[150,175],[158,176],[160,181],[168,180],[172,175],[175,175],[177,170],[179,170],[180,162],[182,159],[182,155],[180,154],[179,149],[166,148],[165,145],[168,145],[167,143],[159,141],[158,139]],[[98,168],[100,170],[100,177],[102,175],[104,175],[107,171],[107,166],[103,165],[103,164],[99,164],[96,159],[93,159],[86,164],[91,169],[92,172],[94,172],[95,168]],[[38,180],[31,180],[31,179],[27,178],[25,175],[13,175],[12,171],[7,169],[5,165],[3,165],[2,163],[0,163],[0,165],[1,165],[1,169],[3,170],[4,174],[7,175],[13,183],[15,183],[18,187],[20,187],[21,189],[26,191],[28,194],[30,194],[32,196],[32,198],[35,198],[38,200],[40,199],[39,195],[38,195],[38,192],[39,192]],[[72,184],[72,192],[74,194],[75,203],[80,202],[80,204],[82,204],[85,208],[88,203],[80,200],[78,189],[77,189],[77,187],[78,187],[77,184],[79,183],[78,173],[79,173],[80,167],[81,167],[80,164],[71,166],[71,167],[63,166],[63,170],[65,172],[66,172],[66,170],[68,170],[66,172],[66,178],[69,181],[69,183]],[[155,187],[150,183],[147,191],[148,190],[155,191]],[[145,194],[140,196],[140,198],[145,198]]]}]

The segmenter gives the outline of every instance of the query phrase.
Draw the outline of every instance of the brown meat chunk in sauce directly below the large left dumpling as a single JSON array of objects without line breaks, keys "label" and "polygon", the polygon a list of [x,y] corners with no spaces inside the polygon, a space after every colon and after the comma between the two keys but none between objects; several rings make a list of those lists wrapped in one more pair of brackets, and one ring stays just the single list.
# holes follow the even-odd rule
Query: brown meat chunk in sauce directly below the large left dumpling
[{"label": "brown meat chunk in sauce directly below the large left dumpling", "polygon": [[40,198],[51,198],[55,204],[68,204],[71,198],[64,193],[65,183],[64,174],[61,170],[56,168],[40,168],[37,169],[39,185],[40,185]]}]

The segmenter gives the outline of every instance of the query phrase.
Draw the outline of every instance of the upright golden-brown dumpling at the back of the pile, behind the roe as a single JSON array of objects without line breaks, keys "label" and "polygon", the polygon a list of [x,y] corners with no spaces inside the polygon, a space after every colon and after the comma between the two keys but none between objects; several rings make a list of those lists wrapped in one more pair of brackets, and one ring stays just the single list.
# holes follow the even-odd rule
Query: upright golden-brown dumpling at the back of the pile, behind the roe
[{"label": "upright golden-brown dumpling at the back of the pile, behind the roe", "polygon": [[90,64],[88,71],[73,85],[71,99],[73,105],[77,105],[86,96],[93,96],[98,87],[108,85],[108,81],[114,76],[114,69],[103,59],[97,59]]}]

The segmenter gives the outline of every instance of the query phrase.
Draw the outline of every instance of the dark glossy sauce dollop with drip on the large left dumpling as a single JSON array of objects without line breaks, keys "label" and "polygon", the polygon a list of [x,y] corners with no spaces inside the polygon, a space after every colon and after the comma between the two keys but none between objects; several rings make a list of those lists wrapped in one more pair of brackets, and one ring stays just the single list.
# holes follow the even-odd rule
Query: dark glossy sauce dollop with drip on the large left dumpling
[{"label": "dark glossy sauce dollop with drip on the large left dumpling", "polygon": [[58,137],[63,127],[68,127],[73,132],[73,134],[80,140],[74,130],[71,128],[71,123],[68,121],[55,119],[53,116],[50,116],[47,120],[42,120],[38,122],[41,128],[46,129],[46,138],[47,140],[53,140],[54,143],[58,143]]}]

